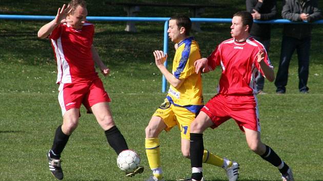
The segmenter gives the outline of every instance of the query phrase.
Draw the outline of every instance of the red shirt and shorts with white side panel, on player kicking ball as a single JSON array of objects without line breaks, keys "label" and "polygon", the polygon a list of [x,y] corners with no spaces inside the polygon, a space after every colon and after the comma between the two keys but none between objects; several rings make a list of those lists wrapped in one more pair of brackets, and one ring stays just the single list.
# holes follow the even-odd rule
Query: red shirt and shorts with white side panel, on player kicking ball
[{"label": "red shirt and shorts with white side panel, on player kicking ball", "polygon": [[82,103],[90,110],[96,103],[111,101],[95,72],[93,35],[94,25],[86,22],[82,29],[59,25],[49,36],[57,62],[58,101],[63,115]]}]

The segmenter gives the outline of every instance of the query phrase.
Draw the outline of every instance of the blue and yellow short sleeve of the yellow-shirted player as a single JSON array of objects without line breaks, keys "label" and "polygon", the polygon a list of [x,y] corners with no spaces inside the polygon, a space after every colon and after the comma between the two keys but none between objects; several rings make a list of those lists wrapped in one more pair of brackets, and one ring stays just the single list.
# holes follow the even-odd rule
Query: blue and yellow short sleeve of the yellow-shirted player
[{"label": "blue and yellow short sleeve of the yellow-shirted player", "polygon": [[174,72],[174,76],[180,80],[186,79],[192,74],[195,74],[194,62],[201,58],[198,47],[191,46],[190,52],[186,51],[188,50],[188,48],[189,47],[186,46],[181,53],[179,64],[176,67],[176,71]]}]

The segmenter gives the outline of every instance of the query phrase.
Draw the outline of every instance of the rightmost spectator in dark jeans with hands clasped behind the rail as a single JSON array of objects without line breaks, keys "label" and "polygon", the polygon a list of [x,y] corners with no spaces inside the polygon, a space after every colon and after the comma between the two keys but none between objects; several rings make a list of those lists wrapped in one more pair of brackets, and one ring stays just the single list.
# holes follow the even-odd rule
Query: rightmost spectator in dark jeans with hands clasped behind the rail
[{"label": "rightmost spectator in dark jeans with hands clasped behind the rail", "polygon": [[[321,17],[317,8],[317,0],[286,0],[283,2],[281,16],[291,21],[312,22]],[[298,89],[300,93],[308,93],[307,86],[311,47],[310,24],[285,24],[281,41],[280,61],[275,85],[277,94],[286,93],[288,67],[294,50],[298,58]]]}]

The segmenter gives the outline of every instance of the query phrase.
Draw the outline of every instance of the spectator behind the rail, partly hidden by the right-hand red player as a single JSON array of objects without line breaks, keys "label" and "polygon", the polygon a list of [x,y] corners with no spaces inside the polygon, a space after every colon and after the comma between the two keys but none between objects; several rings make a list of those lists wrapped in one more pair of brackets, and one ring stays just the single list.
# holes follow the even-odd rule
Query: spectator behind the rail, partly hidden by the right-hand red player
[{"label": "spectator behind the rail, partly hidden by the right-hand red player", "polygon": [[[247,11],[251,13],[253,19],[271,20],[276,18],[277,5],[276,0],[247,0]],[[250,35],[261,42],[267,53],[270,47],[271,24],[253,24]],[[265,78],[258,73],[256,77],[258,94],[266,94],[264,92]]]}]

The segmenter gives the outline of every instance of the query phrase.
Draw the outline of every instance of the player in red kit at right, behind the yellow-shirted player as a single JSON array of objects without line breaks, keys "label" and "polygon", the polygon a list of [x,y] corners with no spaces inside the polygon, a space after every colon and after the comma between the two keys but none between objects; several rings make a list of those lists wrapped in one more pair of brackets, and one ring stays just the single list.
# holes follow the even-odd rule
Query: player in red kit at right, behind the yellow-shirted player
[{"label": "player in red kit at right, behind the yellow-shirted player", "polygon": [[274,71],[263,44],[250,37],[253,17],[247,11],[233,15],[231,39],[220,43],[208,58],[195,62],[196,72],[207,73],[220,65],[221,78],[216,94],[200,111],[191,124],[190,155],[192,178],[203,177],[203,132],[234,119],[246,134],[249,148],[264,160],[277,167],[282,180],[294,180],[290,167],[283,162],[272,148],[260,140],[259,112],[257,105],[257,73],[274,81]]}]

